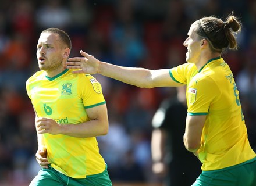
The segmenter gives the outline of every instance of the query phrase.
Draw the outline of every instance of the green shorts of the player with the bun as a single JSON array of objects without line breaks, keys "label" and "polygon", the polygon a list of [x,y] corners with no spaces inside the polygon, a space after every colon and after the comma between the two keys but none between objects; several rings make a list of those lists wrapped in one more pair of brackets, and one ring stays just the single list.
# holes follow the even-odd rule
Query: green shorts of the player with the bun
[{"label": "green shorts of the player with the bun", "polygon": [[192,186],[255,186],[256,158],[221,170],[202,171]]}]

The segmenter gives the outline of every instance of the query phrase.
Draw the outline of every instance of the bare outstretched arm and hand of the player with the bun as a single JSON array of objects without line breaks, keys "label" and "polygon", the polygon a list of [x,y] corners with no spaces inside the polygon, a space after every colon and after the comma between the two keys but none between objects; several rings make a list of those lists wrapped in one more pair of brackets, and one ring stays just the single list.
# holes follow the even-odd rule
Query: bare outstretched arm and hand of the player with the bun
[{"label": "bare outstretched arm and hand of the player with the bun", "polygon": [[111,63],[101,62],[94,56],[80,51],[83,57],[69,58],[67,69],[79,69],[73,73],[102,74],[115,80],[141,88],[177,87],[169,74],[169,69],[149,70],[140,67],[123,67]]}]

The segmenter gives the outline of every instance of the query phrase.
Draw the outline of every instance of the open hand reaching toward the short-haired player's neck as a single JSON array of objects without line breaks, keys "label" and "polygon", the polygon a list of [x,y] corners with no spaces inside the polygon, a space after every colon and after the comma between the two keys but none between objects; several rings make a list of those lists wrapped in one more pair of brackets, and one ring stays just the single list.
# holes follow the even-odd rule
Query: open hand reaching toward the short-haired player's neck
[{"label": "open hand reaching toward the short-haired player's neck", "polygon": [[99,60],[94,58],[88,53],[80,51],[81,55],[84,57],[69,58],[66,62],[67,69],[80,69],[73,71],[74,74],[87,73],[96,74],[98,73]]}]

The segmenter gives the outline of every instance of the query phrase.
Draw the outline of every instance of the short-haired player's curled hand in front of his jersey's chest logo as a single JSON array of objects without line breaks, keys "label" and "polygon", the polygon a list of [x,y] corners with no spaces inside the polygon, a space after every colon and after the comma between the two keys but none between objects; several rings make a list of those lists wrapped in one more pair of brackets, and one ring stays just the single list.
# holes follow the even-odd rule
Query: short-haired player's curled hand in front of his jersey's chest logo
[{"label": "short-haired player's curled hand in front of his jersey's chest logo", "polygon": [[61,124],[46,117],[38,117],[35,120],[35,128],[38,134],[61,134]]}]

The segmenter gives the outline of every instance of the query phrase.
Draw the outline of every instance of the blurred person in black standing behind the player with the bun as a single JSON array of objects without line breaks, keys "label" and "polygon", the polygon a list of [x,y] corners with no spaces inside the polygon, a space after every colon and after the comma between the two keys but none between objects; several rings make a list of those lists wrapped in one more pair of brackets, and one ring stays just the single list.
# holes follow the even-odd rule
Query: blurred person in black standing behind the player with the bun
[{"label": "blurred person in black standing behind the player with the bun", "polygon": [[187,102],[186,86],[163,100],[152,119],[152,170],[165,186],[190,186],[200,174],[201,163],[183,145]]}]

